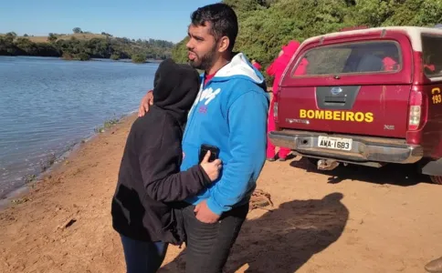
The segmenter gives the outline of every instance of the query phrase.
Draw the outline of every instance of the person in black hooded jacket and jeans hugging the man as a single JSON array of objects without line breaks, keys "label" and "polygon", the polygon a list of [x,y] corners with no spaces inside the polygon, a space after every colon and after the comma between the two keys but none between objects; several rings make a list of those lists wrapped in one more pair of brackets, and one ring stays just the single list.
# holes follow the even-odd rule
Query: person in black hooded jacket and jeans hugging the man
[{"label": "person in black hooded jacket and jeans hugging the man", "polygon": [[168,243],[184,241],[174,207],[219,175],[221,161],[208,162],[209,153],[200,165],[180,172],[184,124],[199,86],[194,68],[164,60],[155,73],[152,110],[134,121],[127,137],[111,216],[128,273],[160,268]]}]

